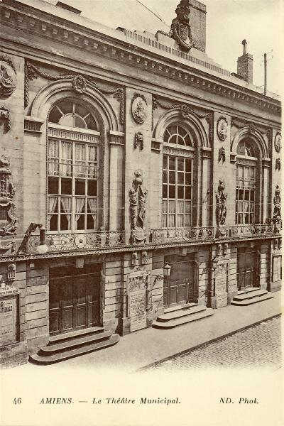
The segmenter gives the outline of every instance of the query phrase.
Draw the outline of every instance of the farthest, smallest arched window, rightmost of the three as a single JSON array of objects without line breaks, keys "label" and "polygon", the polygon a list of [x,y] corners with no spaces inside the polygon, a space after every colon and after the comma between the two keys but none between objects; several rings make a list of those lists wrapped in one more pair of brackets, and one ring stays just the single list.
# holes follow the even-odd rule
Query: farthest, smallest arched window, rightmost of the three
[{"label": "farthest, smallest arched window, rightmost of the three", "polygon": [[236,153],[236,224],[256,224],[259,221],[260,154],[251,138],[242,139]]}]

